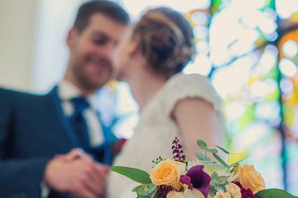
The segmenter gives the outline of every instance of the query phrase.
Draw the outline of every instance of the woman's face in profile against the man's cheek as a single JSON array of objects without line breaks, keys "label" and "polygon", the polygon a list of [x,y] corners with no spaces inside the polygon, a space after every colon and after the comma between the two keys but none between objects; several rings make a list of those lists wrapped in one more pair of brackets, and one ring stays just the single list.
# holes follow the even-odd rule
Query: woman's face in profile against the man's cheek
[{"label": "woman's face in profile against the man's cheek", "polygon": [[113,74],[117,80],[125,80],[131,65],[132,26],[123,33],[112,54]]}]

